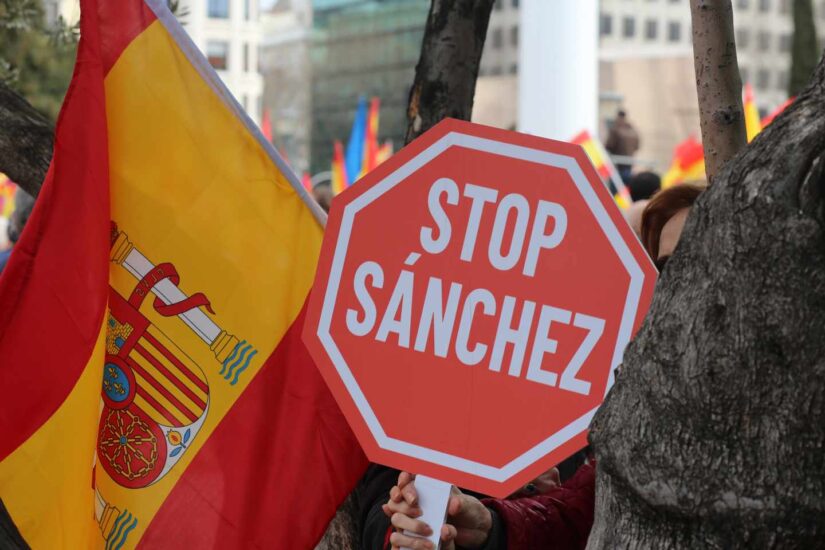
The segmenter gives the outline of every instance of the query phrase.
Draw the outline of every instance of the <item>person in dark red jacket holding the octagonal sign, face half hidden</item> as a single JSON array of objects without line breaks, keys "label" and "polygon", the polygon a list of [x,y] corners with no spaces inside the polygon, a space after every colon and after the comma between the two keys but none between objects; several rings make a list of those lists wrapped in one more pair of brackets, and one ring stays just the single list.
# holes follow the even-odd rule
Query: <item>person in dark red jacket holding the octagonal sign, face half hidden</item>
[{"label": "person in dark red jacket holding the octagonal sign, face half hidden", "polygon": [[[659,192],[642,217],[642,244],[661,271],[676,248],[690,208],[704,191],[700,185],[683,184]],[[583,549],[593,525],[595,504],[595,461],[582,464],[563,484],[550,484],[539,494],[509,499],[479,499],[452,488],[447,506],[447,523],[441,529],[442,548],[447,550],[520,550],[554,548]],[[411,537],[404,531],[429,536],[430,527],[416,519],[418,506],[415,478],[408,472],[398,475],[382,505],[395,532],[388,531],[384,545],[432,549],[428,540]]]}]

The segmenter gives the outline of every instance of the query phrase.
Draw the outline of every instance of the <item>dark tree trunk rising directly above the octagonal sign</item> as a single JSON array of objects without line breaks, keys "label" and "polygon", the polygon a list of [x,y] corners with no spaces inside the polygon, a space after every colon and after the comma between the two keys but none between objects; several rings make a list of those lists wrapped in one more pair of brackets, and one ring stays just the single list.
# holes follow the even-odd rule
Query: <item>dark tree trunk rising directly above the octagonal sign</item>
[{"label": "dark tree trunk rising directly above the octagonal sign", "polygon": [[432,0],[407,108],[406,143],[445,117],[470,120],[494,0]]}]

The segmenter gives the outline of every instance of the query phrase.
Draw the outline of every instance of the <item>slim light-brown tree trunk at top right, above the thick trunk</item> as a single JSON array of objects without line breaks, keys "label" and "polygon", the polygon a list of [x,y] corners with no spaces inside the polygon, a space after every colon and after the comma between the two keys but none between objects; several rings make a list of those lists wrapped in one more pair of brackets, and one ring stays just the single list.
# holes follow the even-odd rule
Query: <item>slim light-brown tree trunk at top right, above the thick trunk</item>
[{"label": "slim light-brown tree trunk at top right, above the thick trunk", "polygon": [[690,0],[693,65],[708,181],[747,143],[730,0]]}]

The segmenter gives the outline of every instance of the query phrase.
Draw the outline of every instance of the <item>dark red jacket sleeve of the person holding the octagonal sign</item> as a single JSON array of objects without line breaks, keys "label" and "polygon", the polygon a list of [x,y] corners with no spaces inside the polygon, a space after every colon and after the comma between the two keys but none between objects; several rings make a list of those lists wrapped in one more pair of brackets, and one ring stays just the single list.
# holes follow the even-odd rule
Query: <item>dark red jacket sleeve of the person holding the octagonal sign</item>
[{"label": "dark red jacket sleeve of the person holding the octagonal sign", "polygon": [[574,550],[587,546],[593,526],[596,470],[585,464],[563,485],[543,495],[485,499],[507,533],[507,550]]}]

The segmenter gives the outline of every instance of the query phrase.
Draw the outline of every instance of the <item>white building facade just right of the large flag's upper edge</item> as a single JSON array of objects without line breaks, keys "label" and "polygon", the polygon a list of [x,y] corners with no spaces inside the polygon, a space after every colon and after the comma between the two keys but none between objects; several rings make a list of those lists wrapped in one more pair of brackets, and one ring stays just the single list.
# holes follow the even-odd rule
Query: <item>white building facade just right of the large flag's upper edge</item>
[{"label": "white building facade just right of the large flag's upper edge", "polygon": [[182,0],[179,19],[252,120],[260,123],[258,12],[257,0]]}]

